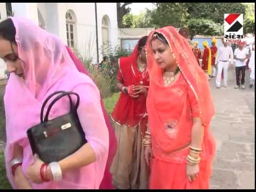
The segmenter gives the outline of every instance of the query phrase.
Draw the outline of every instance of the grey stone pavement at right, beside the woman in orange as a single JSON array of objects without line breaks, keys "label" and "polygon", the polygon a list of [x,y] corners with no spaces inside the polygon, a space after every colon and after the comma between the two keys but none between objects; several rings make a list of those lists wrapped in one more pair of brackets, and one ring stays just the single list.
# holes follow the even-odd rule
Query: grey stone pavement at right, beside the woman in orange
[{"label": "grey stone pavement at right, beside the woman in orange", "polygon": [[211,189],[255,189],[255,89],[234,89],[235,68],[228,72],[228,87],[210,81],[215,106],[211,131],[217,142]]}]

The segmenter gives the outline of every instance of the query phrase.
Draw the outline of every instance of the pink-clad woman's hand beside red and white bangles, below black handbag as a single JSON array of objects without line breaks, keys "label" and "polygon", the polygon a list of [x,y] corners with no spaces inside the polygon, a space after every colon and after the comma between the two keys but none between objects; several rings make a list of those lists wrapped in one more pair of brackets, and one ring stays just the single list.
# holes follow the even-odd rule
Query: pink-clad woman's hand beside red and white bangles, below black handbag
[{"label": "pink-clad woman's hand beside red and white bangles, below black handbag", "polygon": [[41,159],[39,159],[38,155],[35,154],[34,155],[34,163],[32,163],[31,165],[29,165],[27,167],[26,173],[28,176],[28,179],[34,183],[43,183],[41,175],[40,175],[40,169],[41,166],[43,165],[43,161]]}]

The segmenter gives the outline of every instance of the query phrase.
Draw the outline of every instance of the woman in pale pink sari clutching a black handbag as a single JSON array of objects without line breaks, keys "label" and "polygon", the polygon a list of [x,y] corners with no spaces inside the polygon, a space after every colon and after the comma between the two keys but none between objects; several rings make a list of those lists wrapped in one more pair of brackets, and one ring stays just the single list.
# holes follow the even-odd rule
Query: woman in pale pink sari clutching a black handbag
[{"label": "woman in pale pink sari clutching a black handbag", "polygon": [[[0,57],[10,73],[4,106],[5,163],[12,187],[99,189],[108,162],[109,132],[100,93],[92,79],[77,70],[58,37],[23,18],[9,18],[0,23]],[[79,94],[77,114],[87,143],[55,162],[54,169],[50,166],[41,169],[43,162],[33,156],[26,131],[39,124],[43,101],[59,90]],[[68,111],[68,99],[63,98],[55,103],[50,118]],[[42,170],[44,177],[40,174]]]}]

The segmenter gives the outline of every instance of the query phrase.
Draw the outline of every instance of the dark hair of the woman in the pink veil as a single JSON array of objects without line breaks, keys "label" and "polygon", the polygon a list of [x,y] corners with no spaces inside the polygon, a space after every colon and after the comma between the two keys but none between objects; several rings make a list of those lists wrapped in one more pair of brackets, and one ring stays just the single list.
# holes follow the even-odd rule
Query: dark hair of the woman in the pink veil
[{"label": "dark hair of the woman in the pink veil", "polygon": [[16,43],[15,41],[16,29],[12,20],[6,19],[0,22],[0,36],[3,37],[5,40],[10,41],[11,43]]}]

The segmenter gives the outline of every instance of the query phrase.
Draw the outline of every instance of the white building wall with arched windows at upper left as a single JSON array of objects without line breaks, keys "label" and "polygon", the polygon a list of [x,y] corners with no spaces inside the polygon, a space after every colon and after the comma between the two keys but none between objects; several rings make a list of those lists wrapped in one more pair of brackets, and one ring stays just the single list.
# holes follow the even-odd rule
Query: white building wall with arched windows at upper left
[{"label": "white building wall with arched windows at upper left", "polygon": [[[97,62],[97,41],[94,3],[12,3],[14,17],[25,17],[37,25],[44,22],[49,33],[59,36],[67,44],[66,13],[72,10],[76,17],[75,39],[78,51],[86,59]],[[38,11],[40,22],[38,20]],[[6,18],[6,5],[0,3],[1,20]],[[106,16],[109,23],[109,43],[118,44],[118,27],[116,3],[97,3],[99,62],[102,60],[102,18]],[[0,59],[0,78],[4,78],[5,65]]]}]

